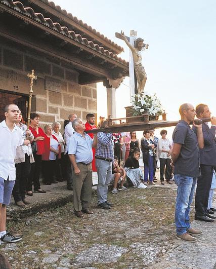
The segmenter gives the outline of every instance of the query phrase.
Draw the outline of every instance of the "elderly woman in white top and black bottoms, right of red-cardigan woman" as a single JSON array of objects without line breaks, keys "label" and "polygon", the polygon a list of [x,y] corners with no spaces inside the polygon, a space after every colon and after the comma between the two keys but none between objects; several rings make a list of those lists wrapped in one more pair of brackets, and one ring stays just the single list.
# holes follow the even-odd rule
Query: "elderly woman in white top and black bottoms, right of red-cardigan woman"
[{"label": "elderly woman in white top and black bottoms, right of red-cardigan woman", "polygon": [[66,164],[65,164],[65,156],[64,156],[64,139],[62,134],[59,132],[61,129],[61,124],[58,122],[54,122],[52,124],[52,134],[57,138],[60,146],[61,146],[61,158],[56,160],[56,166],[55,166],[55,175],[56,180],[59,182],[62,182],[65,180],[65,171],[66,171]]}]

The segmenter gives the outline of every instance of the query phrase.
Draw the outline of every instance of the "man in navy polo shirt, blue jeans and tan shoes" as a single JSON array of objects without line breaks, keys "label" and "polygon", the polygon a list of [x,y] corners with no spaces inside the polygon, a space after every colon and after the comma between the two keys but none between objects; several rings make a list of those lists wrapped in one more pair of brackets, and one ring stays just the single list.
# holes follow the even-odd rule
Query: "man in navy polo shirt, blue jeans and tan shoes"
[{"label": "man in navy polo shirt, blue jeans and tan shoes", "polygon": [[[172,138],[172,162],[175,165],[174,178],[178,186],[176,199],[176,231],[177,239],[196,242],[191,235],[201,235],[200,230],[190,226],[190,205],[193,201],[197,177],[200,176],[199,148],[203,148],[202,125],[194,124],[196,116],[192,104],[182,104],[179,108],[181,121],[177,124]],[[191,130],[189,124],[193,122],[197,134]]]}]

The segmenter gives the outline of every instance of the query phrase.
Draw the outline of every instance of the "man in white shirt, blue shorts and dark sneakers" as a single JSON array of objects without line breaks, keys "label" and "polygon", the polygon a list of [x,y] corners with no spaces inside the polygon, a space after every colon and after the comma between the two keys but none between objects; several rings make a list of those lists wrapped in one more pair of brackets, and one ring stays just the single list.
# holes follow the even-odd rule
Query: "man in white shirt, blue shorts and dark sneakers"
[{"label": "man in white shirt, blue shorts and dark sneakers", "polygon": [[22,145],[22,130],[16,126],[19,108],[15,104],[5,107],[6,120],[0,123],[0,236],[1,243],[18,242],[22,238],[6,232],[6,206],[10,204],[16,179],[14,159],[16,149]]}]

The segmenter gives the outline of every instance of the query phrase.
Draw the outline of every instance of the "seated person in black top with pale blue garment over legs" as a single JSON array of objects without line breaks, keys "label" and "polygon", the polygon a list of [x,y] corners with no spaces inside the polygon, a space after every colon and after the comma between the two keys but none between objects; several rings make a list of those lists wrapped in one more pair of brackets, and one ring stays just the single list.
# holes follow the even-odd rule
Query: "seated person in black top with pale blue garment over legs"
[{"label": "seated person in black top with pale blue garment over legs", "polygon": [[140,150],[135,148],[133,155],[130,156],[125,162],[125,172],[129,180],[132,182],[134,187],[146,188],[147,186],[143,183],[143,172],[139,165]]}]

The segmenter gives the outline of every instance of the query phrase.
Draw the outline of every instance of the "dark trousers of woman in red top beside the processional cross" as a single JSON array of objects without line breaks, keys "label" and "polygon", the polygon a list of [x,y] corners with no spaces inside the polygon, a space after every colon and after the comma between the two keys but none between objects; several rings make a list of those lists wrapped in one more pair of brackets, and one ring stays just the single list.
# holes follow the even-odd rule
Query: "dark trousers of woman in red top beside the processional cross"
[{"label": "dark trousers of woman in red top beside the processional cross", "polygon": [[30,176],[27,182],[27,191],[32,190],[32,183],[34,184],[34,190],[40,189],[40,170],[41,170],[41,155],[33,153],[34,163],[31,164]]}]

